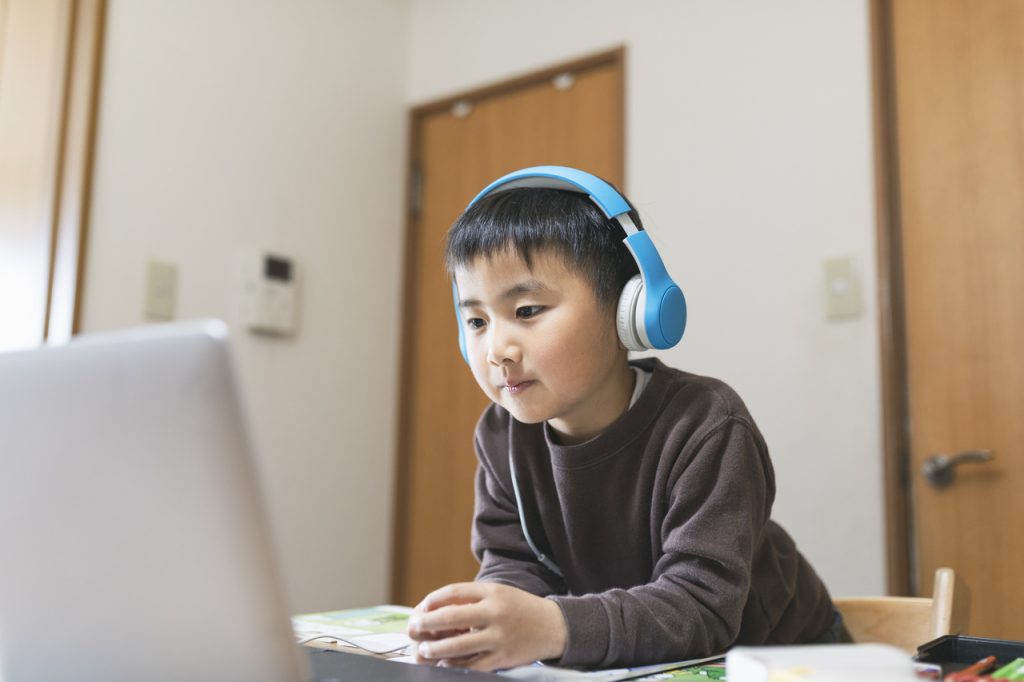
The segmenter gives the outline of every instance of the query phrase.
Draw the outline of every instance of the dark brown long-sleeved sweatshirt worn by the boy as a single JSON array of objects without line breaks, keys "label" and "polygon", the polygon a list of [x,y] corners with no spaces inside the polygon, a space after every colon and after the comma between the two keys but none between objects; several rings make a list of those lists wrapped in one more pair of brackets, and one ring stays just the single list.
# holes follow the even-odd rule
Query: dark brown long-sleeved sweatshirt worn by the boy
[{"label": "dark brown long-sleeved sweatshirt worn by the boy", "polygon": [[[727,385],[651,371],[606,431],[559,445],[546,424],[492,404],[476,428],[472,548],[478,581],[554,600],[568,628],[562,666],[609,667],[813,641],[833,622],[821,580],[769,519],[768,447]],[[509,451],[530,537],[519,525]]]}]

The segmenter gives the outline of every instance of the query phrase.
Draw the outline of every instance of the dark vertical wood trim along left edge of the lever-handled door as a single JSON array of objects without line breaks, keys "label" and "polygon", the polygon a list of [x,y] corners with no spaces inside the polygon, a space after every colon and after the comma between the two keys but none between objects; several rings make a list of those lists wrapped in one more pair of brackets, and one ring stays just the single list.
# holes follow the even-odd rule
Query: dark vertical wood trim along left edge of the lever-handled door
[{"label": "dark vertical wood trim along left edge of the lever-handled door", "polygon": [[876,236],[882,360],[882,438],[889,594],[915,592],[910,509],[909,404],[900,235],[899,147],[893,0],[871,0],[871,75],[874,121]]}]

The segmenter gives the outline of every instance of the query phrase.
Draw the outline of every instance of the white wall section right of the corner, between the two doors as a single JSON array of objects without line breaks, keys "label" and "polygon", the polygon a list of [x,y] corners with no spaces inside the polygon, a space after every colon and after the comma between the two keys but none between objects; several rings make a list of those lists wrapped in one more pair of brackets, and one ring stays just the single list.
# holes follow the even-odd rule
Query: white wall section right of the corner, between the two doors
[{"label": "white wall section right of the corner, between the two doors", "polygon": [[[423,103],[627,46],[627,189],[686,292],[672,365],[744,397],[775,517],[836,594],[885,591],[869,40],[863,0],[414,0]],[[823,261],[855,257],[828,323]]]}]

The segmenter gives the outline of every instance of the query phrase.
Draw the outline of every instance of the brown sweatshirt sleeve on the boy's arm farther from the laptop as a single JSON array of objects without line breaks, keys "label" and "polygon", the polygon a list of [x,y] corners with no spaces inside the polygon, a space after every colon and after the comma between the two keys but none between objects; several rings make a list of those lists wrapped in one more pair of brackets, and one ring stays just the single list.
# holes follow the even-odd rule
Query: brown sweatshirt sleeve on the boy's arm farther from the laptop
[{"label": "brown sweatshirt sleeve on the boy's arm farther from the laptop", "polygon": [[735,641],[771,506],[767,449],[750,423],[728,417],[675,457],[650,582],[550,597],[568,626],[560,665],[682,660]]}]

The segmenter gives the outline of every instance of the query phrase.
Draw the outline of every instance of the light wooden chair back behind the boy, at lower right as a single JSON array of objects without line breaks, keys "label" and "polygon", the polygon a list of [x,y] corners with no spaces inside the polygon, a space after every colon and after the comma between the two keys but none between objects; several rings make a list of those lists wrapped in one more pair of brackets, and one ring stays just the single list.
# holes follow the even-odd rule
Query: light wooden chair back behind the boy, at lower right
[{"label": "light wooden chair back behind the boy, at lower right", "polygon": [[892,644],[909,653],[936,637],[967,625],[969,594],[952,568],[935,571],[931,597],[848,597],[835,599],[854,642]]}]

